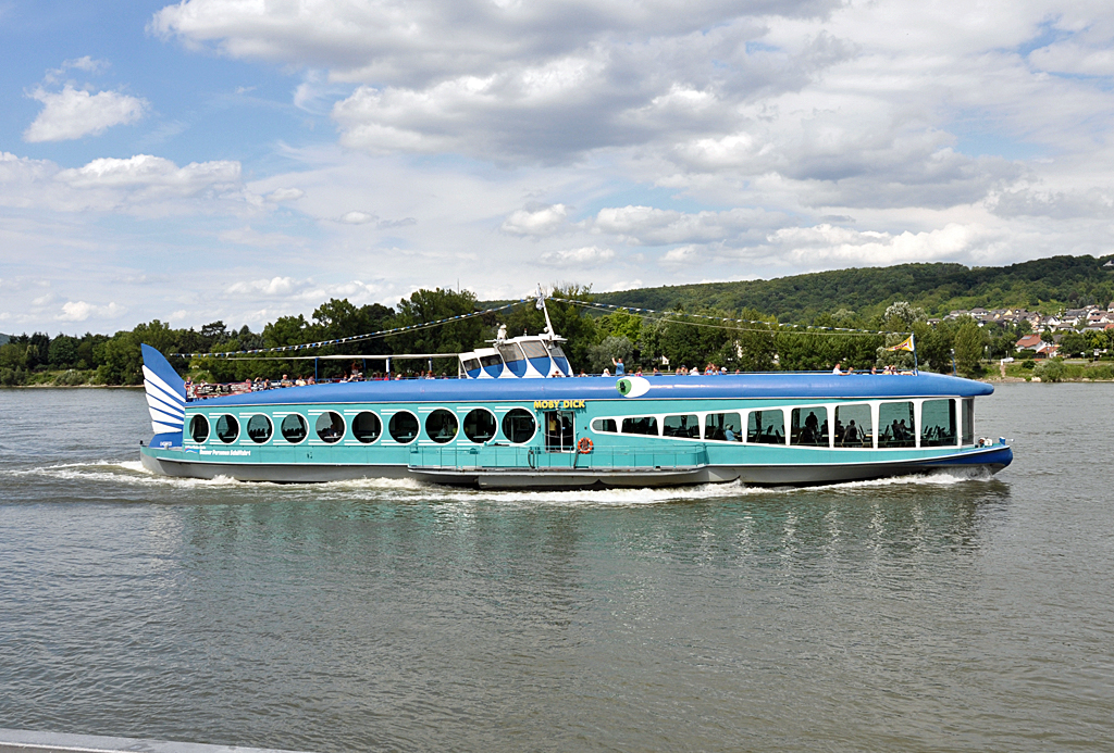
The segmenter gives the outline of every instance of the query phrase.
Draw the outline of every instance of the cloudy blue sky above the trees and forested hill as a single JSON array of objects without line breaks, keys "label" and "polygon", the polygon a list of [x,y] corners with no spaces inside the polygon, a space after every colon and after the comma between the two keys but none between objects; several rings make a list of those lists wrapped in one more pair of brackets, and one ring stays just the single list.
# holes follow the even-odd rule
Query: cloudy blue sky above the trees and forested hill
[{"label": "cloudy blue sky above the trees and forested hill", "polygon": [[1108,0],[0,0],[0,70],[6,333],[1114,252]]}]

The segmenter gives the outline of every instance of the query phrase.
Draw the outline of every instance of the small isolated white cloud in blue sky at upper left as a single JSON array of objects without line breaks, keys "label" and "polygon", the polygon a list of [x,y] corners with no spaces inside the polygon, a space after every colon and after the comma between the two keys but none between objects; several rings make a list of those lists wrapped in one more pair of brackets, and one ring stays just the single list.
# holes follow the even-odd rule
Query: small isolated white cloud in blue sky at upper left
[{"label": "small isolated white cloud in blue sky at upper left", "polygon": [[113,126],[136,122],[149,108],[145,99],[118,91],[90,95],[68,83],[61,91],[36,89],[30,97],[43,106],[23,131],[23,140],[31,143],[99,136]]}]

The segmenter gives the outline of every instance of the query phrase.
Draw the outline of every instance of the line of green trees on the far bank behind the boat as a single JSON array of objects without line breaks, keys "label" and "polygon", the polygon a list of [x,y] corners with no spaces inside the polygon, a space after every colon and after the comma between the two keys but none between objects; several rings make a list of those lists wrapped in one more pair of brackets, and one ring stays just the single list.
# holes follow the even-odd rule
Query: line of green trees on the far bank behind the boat
[{"label": "line of green trees on the far bank behind the boat", "polygon": [[[603,313],[590,288],[578,285],[556,286],[551,295],[576,303],[548,301],[549,315],[558,335],[568,338],[565,349],[577,371],[600,373],[622,358],[628,371],[642,368],[673,370],[680,366],[704,370],[709,364],[730,371],[831,369],[870,369],[886,365],[911,367],[912,354],[888,350],[908,333],[913,333],[917,357],[922,369],[965,376],[978,376],[980,361],[988,357],[1012,355],[1014,343],[1028,329],[987,325],[974,320],[945,320],[928,324],[924,308],[908,301],[888,305],[880,314],[862,315],[848,308],[823,313],[808,321],[808,327],[788,327],[778,318],[754,308],[676,306],[659,316],[636,316],[626,309]],[[173,328],[159,320],[140,324],[115,335],[84,336],[46,333],[19,335],[0,346],[0,384],[104,384],[135,385],[143,382],[143,356],[146,343],[167,355],[172,365],[195,380],[242,382],[277,378],[283,374],[314,374],[312,360],[226,359],[214,356],[182,358],[172,354],[234,353],[339,339],[400,327],[412,327],[483,309],[468,290],[418,290],[394,307],[371,304],[356,306],[348,299],[330,299],[314,309],[311,318],[302,315],[280,317],[253,331],[244,326],[229,329],[213,321],[199,330]],[[317,377],[346,373],[361,356],[400,353],[461,353],[485,347],[506,325],[510,336],[537,334],[545,318],[532,305],[520,305],[429,328],[417,328],[343,346],[317,347],[301,351],[307,355],[350,355],[352,360],[321,360]],[[858,329],[867,331],[839,331]],[[1081,335],[1081,337],[1083,337]],[[1086,340],[1089,341],[1089,340]],[[382,368],[382,361],[368,361],[368,370]],[[426,361],[397,361],[395,370],[408,367],[424,370]],[[433,361],[437,374],[455,375],[453,359]]]}]

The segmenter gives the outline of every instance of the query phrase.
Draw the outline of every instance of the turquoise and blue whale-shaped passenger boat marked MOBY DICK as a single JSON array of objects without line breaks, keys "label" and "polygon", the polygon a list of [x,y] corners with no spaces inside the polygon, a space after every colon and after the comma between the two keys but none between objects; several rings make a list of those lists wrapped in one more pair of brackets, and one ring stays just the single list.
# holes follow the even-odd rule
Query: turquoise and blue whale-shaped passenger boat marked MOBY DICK
[{"label": "turquoise and blue whale-shaped passenger boat marked MOBY DICK", "polygon": [[460,354],[453,379],[187,400],[144,353],[155,473],[245,482],[413,478],[481,488],[809,485],[1009,465],[977,438],[990,385],[939,374],[573,377],[549,328]]}]

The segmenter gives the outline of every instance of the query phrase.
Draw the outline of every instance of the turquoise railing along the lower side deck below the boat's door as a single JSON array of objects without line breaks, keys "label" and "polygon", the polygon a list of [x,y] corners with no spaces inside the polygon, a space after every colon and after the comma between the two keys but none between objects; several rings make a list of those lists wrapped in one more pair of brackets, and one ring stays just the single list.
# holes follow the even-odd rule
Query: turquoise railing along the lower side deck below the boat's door
[{"label": "turquoise railing along the lower side deck below the boat's door", "polygon": [[475,447],[411,447],[411,468],[520,468],[520,469],[672,469],[707,465],[707,447],[636,446],[596,447],[588,453],[544,447],[477,445]]}]

